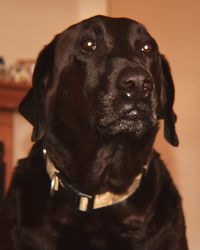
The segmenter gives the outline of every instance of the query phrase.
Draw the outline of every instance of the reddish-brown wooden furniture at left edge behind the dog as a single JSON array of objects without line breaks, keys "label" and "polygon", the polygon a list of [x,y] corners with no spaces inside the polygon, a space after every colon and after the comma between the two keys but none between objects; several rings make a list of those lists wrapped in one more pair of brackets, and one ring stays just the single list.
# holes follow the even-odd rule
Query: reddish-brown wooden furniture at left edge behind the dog
[{"label": "reddish-brown wooden furniture at left edge behind the dog", "polygon": [[0,80],[0,141],[5,145],[6,188],[13,171],[13,117],[29,88],[28,83]]}]

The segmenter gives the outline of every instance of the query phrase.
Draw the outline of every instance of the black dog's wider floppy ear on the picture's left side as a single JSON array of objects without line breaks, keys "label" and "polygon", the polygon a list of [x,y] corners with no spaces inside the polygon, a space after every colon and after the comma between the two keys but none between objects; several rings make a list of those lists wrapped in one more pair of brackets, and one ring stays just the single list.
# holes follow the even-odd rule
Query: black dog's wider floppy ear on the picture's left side
[{"label": "black dog's wider floppy ear on the picture's left side", "polygon": [[46,131],[44,98],[53,67],[55,40],[40,52],[33,72],[32,88],[19,104],[19,113],[33,125],[32,141],[41,139]]}]

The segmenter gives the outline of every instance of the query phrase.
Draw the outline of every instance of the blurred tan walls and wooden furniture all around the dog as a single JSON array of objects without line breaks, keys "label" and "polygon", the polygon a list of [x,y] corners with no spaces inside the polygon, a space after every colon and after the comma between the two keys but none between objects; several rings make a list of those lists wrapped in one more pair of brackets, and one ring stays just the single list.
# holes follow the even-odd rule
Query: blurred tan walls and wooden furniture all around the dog
[{"label": "blurred tan walls and wooden furniture all around the dog", "polygon": [[[17,159],[31,145],[32,128],[16,109],[30,86],[27,74],[39,51],[56,33],[84,18],[129,17],[147,27],[171,65],[180,146],[164,141],[162,124],[155,146],[183,197],[190,250],[199,250],[200,1],[0,0],[0,10],[0,74],[9,72],[7,81],[0,75],[0,173],[6,163],[6,187]],[[28,67],[25,73],[23,67]]]}]

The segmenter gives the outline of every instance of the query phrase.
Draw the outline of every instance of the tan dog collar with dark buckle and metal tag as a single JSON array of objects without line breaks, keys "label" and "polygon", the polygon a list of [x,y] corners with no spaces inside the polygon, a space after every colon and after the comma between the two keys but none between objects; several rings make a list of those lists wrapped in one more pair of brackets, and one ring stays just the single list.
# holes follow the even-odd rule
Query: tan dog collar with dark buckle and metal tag
[{"label": "tan dog collar with dark buckle and metal tag", "polygon": [[90,212],[93,209],[112,206],[120,203],[130,196],[132,196],[140,187],[142,177],[146,175],[149,167],[149,162],[143,166],[143,172],[138,174],[132,184],[127,188],[126,192],[122,194],[115,194],[112,192],[105,192],[101,194],[85,194],[74,188],[68,180],[66,180],[63,173],[61,173],[54,165],[54,163],[47,157],[46,149],[43,149],[44,158],[46,159],[47,173],[51,179],[50,193],[52,195],[64,194],[70,199],[70,203],[74,209],[82,212]]}]

